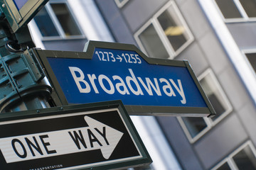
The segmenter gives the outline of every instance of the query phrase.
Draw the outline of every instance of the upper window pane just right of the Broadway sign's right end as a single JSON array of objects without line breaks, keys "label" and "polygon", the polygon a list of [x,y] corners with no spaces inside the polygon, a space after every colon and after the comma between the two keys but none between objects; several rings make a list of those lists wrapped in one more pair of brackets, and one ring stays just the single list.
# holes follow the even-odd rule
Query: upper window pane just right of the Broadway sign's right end
[{"label": "upper window pane just right of the Broadway sign's right end", "polygon": [[218,86],[213,79],[213,74],[207,74],[206,77],[200,81],[203,91],[205,91],[206,96],[208,96],[210,103],[213,105],[213,108],[216,112],[216,115],[212,120],[216,120],[220,115],[222,115],[227,109],[228,106],[225,105],[225,99],[218,89]]}]

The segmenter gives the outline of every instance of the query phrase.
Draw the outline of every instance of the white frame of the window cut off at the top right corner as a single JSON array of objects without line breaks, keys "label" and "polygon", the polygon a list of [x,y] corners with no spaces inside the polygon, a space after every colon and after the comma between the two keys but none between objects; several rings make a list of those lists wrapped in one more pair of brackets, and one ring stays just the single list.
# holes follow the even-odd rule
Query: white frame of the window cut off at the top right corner
[{"label": "white frame of the window cut off at the top right corner", "polygon": [[220,13],[220,16],[223,18],[223,21],[225,23],[238,23],[238,22],[247,22],[247,21],[256,21],[256,17],[249,17],[247,16],[247,13],[245,9],[243,8],[242,4],[240,3],[240,0],[233,0],[235,6],[238,8],[238,11],[240,12],[242,18],[225,18],[223,16],[223,13],[220,11],[220,8],[215,0],[212,0],[213,4],[215,4],[218,12]]}]

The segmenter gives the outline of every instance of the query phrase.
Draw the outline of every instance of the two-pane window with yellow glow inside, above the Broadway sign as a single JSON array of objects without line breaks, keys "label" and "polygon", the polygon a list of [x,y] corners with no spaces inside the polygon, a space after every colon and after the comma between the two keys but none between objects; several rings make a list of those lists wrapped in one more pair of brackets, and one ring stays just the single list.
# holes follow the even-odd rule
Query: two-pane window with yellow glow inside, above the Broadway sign
[{"label": "two-pane window with yellow glow inside, above the Broadway sign", "polygon": [[174,1],[161,8],[134,38],[149,57],[164,59],[173,59],[193,41]]}]

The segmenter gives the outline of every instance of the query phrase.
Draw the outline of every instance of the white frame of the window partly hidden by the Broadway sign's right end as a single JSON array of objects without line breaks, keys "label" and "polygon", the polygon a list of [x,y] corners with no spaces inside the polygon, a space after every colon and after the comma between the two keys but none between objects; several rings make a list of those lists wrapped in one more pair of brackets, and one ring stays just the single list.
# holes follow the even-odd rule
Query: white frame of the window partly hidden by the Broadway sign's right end
[{"label": "white frame of the window partly hidden by the Broadway sign's right end", "polygon": [[223,91],[223,88],[220,86],[220,83],[218,82],[217,77],[215,76],[215,74],[213,73],[212,69],[208,68],[206,69],[205,72],[203,72],[199,77],[198,77],[198,81],[201,81],[201,79],[203,79],[206,76],[210,76],[211,79],[213,80],[214,86],[216,87],[216,89],[218,89],[218,91],[220,92],[220,97],[223,98],[224,101],[224,105],[227,107],[227,109],[225,110],[224,113],[222,113],[216,120],[212,120],[211,118],[206,118],[203,117],[203,120],[206,122],[206,128],[204,128],[203,130],[201,130],[201,132],[199,132],[195,137],[192,137],[186,124],[184,123],[183,119],[181,117],[177,117],[178,122],[181,125],[181,128],[183,129],[183,131],[186,134],[186,137],[188,137],[189,142],[191,142],[191,144],[193,144],[194,142],[196,142],[198,139],[200,139],[201,137],[203,137],[203,135],[206,134],[206,132],[208,132],[211,128],[213,128],[215,125],[217,125],[218,123],[220,123],[221,120],[223,120],[229,113],[231,113],[233,111],[233,107],[230,103],[230,101],[228,100],[228,97],[225,95],[225,92]]}]

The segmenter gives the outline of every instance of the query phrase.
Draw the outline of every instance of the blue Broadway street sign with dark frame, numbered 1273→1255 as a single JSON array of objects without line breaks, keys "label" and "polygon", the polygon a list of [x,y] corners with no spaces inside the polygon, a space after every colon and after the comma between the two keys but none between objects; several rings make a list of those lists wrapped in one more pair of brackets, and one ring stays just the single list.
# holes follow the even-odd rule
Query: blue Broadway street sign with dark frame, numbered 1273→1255
[{"label": "blue Broadway street sign with dark frame, numbered 1273\u21921255", "polygon": [[149,58],[134,45],[113,42],[90,41],[85,50],[33,50],[56,103],[122,100],[131,115],[215,114],[187,61]]}]

